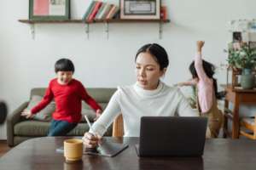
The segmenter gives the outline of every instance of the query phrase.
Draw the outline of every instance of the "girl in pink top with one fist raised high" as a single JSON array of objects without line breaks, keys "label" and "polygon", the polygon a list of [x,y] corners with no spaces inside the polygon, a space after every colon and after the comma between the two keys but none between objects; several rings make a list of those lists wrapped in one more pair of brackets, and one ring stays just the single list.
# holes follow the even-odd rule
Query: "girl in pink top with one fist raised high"
[{"label": "girl in pink top with one fist raised high", "polygon": [[196,107],[201,116],[208,116],[208,127],[211,131],[211,137],[217,138],[219,129],[223,122],[223,114],[218,110],[217,81],[213,78],[214,65],[201,59],[201,48],[203,41],[196,42],[197,53],[195,61],[189,65],[189,71],[192,74],[192,80],[181,82],[180,86],[195,86]]}]

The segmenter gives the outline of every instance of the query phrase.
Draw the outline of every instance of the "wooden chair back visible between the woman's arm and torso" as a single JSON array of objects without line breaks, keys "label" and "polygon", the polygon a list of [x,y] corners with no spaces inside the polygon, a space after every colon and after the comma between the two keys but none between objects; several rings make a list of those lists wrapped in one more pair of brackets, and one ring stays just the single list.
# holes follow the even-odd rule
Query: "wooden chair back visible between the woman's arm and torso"
[{"label": "wooden chair back visible between the woman's arm and torso", "polygon": [[123,137],[124,136],[124,122],[123,122],[122,114],[117,116],[113,121],[112,136],[113,137]]}]

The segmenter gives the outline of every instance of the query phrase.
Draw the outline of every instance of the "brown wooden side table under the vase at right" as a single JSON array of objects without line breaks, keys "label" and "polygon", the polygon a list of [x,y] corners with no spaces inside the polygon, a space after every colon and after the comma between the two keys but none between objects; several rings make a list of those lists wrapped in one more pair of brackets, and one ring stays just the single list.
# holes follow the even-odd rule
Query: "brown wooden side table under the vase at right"
[{"label": "brown wooden side table under the vase at right", "polygon": [[[225,97],[225,108],[229,108],[229,102],[233,103],[233,111],[232,114],[226,114],[227,117],[230,117],[232,120],[232,139],[239,138],[239,105],[256,105],[256,90],[243,90],[237,88],[231,88],[231,86],[222,87],[227,92]],[[224,131],[228,133],[227,123],[224,123]],[[255,167],[256,168],[256,167]]]}]

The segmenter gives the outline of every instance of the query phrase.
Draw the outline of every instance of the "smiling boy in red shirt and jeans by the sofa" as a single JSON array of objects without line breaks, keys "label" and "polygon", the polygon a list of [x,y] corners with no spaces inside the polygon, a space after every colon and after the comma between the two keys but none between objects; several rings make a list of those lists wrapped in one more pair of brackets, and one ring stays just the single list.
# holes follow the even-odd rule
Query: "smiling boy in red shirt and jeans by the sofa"
[{"label": "smiling boy in red shirt and jeans by the sofa", "polygon": [[102,108],[87,94],[83,84],[73,79],[74,65],[70,59],[59,59],[55,63],[56,78],[49,82],[44,98],[32,108],[23,111],[21,116],[32,117],[44,109],[52,99],[55,99],[56,109],[53,113],[48,136],[64,136],[81,120],[81,100],[84,100],[96,111],[96,117],[102,113]]}]

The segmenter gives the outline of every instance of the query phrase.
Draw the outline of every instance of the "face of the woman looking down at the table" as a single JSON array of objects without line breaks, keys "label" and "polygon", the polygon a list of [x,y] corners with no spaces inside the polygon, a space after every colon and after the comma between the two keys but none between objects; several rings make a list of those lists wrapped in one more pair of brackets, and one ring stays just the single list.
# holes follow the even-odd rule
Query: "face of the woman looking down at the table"
[{"label": "face of the woman looking down at the table", "polygon": [[160,77],[164,75],[166,69],[160,71],[160,65],[149,53],[140,53],[136,59],[136,74],[138,84],[146,90],[157,88]]}]

